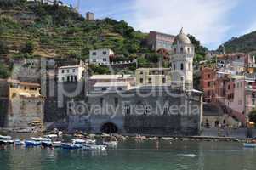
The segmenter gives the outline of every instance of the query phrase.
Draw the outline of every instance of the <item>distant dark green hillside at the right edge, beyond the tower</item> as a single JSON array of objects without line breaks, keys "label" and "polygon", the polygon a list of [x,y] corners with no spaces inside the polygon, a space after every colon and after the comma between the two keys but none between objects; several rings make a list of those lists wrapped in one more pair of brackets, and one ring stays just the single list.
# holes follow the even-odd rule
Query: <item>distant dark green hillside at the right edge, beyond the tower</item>
[{"label": "distant dark green hillside at the right edge, beyond the tower", "polygon": [[[243,52],[248,53],[256,50],[256,31],[241,37],[233,37],[224,43],[225,53]],[[221,47],[218,49],[221,50]]]}]

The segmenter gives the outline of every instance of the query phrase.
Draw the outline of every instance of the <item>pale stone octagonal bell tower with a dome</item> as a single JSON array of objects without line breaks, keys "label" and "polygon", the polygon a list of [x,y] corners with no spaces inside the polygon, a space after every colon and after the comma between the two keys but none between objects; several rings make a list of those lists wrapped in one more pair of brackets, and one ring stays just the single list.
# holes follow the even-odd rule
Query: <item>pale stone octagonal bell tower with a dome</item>
[{"label": "pale stone octagonal bell tower with a dome", "polygon": [[174,39],[174,54],[171,56],[172,84],[175,87],[182,86],[186,90],[193,88],[193,58],[195,48],[190,38],[180,30]]}]

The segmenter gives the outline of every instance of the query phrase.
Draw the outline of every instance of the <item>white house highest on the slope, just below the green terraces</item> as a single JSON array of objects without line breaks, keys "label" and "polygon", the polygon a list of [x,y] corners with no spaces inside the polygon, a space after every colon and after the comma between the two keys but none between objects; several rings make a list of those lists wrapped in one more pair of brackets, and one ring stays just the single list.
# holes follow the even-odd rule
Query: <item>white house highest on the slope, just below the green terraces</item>
[{"label": "white house highest on the slope, just below the green terraces", "polygon": [[108,48],[90,50],[89,62],[92,64],[109,64],[110,55],[114,55],[114,52]]}]

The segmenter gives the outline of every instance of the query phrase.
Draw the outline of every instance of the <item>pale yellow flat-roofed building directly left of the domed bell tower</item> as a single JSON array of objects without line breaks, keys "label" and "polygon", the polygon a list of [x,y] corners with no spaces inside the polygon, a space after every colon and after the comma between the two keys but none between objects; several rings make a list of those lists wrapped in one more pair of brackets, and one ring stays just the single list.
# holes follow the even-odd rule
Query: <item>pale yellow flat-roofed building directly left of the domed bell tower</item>
[{"label": "pale yellow flat-roofed building directly left of the domed bell tower", "polygon": [[169,68],[139,68],[136,70],[136,85],[162,86],[171,82]]}]

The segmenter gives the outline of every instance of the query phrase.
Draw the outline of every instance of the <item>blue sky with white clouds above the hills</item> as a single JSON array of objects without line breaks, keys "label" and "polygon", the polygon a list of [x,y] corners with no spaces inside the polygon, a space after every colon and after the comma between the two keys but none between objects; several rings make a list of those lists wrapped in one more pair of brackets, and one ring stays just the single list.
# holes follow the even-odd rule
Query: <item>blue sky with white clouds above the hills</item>
[{"label": "blue sky with white clouds above the hills", "polygon": [[[77,6],[78,0],[62,0]],[[80,0],[79,12],[125,20],[135,30],[177,35],[181,27],[209,49],[256,31],[256,0]]]}]

